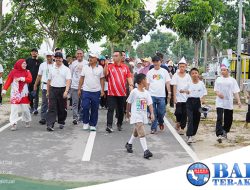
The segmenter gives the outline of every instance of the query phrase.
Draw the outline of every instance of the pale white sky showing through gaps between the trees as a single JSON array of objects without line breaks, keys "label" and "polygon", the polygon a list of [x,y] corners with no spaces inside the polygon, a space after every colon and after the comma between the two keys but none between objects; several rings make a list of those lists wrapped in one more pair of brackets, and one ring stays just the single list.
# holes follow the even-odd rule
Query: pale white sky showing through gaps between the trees
[{"label": "pale white sky showing through gaps between the trees", "polygon": [[[144,0],[144,2],[146,4],[146,9],[150,10],[151,12],[155,12],[156,5],[157,5],[158,1],[159,0]],[[3,0],[3,14],[10,11],[10,8],[11,8],[11,6],[10,6],[10,3],[9,3],[9,0]],[[158,26],[157,29],[159,29],[161,32],[171,32],[171,30],[167,29],[166,27]],[[148,34],[147,36],[144,36],[142,41],[140,41],[139,43],[147,42],[149,40],[150,40],[150,36]],[[102,48],[100,47],[100,45],[105,43],[105,41],[106,41],[105,37],[103,37],[100,42],[96,42],[96,43],[89,42],[88,43],[89,51],[93,52],[93,53],[100,54],[100,52],[102,51]],[[139,43],[133,43],[133,46],[136,48]],[[40,55],[45,53],[48,48],[49,48],[49,46],[46,44],[46,42],[43,42],[43,44],[41,45],[41,48],[39,50]]]}]

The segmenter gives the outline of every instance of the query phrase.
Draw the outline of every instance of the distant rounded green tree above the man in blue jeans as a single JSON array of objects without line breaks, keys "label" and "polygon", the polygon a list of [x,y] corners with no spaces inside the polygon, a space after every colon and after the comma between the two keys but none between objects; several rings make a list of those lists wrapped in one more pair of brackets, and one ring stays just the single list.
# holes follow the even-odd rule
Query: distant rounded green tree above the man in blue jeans
[{"label": "distant rounded green tree above the man in blue jeans", "polygon": [[171,55],[171,46],[177,37],[172,33],[162,33],[157,30],[156,33],[150,35],[150,41],[139,44],[136,53],[138,57],[149,57],[155,55],[156,52],[161,52],[165,55]]}]

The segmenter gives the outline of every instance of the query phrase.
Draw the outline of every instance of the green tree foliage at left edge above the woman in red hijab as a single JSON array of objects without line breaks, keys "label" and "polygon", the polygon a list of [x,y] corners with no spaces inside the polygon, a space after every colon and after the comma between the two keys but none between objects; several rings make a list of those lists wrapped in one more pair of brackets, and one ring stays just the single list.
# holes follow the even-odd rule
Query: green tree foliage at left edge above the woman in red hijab
[{"label": "green tree foliage at left edge above the woman in red hijab", "polygon": [[[12,10],[3,17],[3,27],[8,26],[13,14],[15,13]],[[0,36],[0,61],[7,71],[6,74],[17,59],[27,58],[32,48],[40,47],[42,44],[44,33],[38,30],[35,23],[30,22],[29,19],[24,10],[19,11],[12,21],[13,24]]]}]

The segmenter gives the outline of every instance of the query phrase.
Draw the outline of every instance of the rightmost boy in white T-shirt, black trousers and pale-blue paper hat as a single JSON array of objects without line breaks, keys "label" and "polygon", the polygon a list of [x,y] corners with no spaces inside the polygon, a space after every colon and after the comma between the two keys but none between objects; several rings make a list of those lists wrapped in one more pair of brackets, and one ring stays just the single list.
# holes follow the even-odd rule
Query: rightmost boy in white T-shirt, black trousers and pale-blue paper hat
[{"label": "rightmost boy in white T-shirt, black trousers and pale-blue paper hat", "polygon": [[[221,65],[221,77],[215,80],[214,91],[216,93],[216,136],[217,141],[222,143],[222,138],[227,138],[227,133],[230,131],[233,122],[233,96],[235,95],[239,107],[240,102],[240,88],[236,80],[229,75],[229,68]],[[224,125],[223,123],[224,114]]]}]

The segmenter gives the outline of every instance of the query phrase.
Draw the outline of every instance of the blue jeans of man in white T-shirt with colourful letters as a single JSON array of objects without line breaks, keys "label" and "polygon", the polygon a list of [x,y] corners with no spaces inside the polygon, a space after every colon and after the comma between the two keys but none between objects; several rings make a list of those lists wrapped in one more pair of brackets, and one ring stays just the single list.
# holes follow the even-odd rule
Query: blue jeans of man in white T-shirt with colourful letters
[{"label": "blue jeans of man in white T-shirt with colourful letters", "polygon": [[164,116],[166,113],[165,97],[152,96],[155,120],[151,125],[151,130],[157,130],[158,123],[161,125],[164,123]]}]

